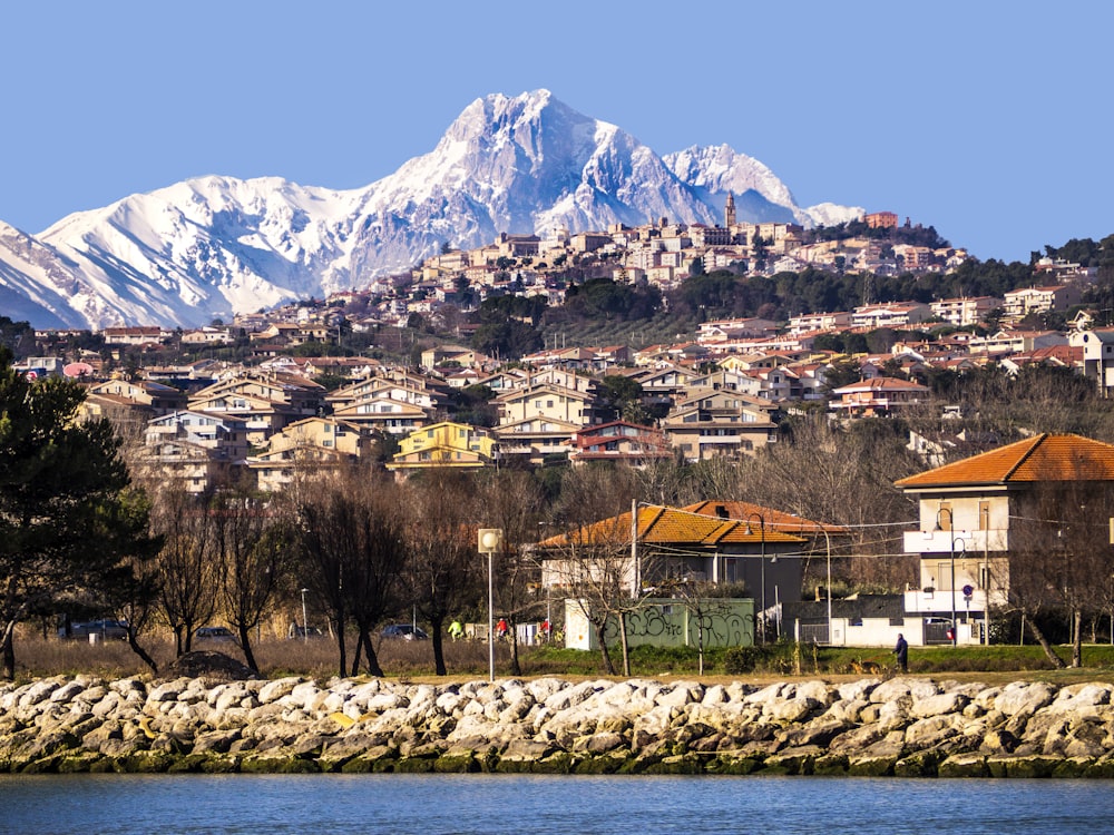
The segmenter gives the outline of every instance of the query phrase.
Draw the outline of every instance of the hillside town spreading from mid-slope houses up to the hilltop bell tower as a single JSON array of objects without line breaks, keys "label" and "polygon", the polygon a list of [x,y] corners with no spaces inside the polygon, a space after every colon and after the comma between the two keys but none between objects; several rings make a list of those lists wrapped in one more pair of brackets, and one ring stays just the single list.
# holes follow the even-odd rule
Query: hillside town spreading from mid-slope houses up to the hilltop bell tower
[{"label": "hillside town spreading from mid-slope houses up to the hilltop bell tower", "polygon": [[[881,212],[866,215],[863,224],[892,229],[898,217]],[[802,265],[833,268],[836,259],[874,272],[947,271],[964,259],[960,249],[866,238],[805,245],[802,233],[790,224],[737,223],[732,197],[722,227],[662,220],[606,233],[556,230],[546,238],[504,234],[476,250],[446,247],[410,276],[316,305],[241,314],[231,324],[189,331],[109,327],[99,334],[99,353],[51,350],[79,334],[40,332],[38,347],[47,353],[27,356],[19,367],[79,379],[88,415],[130,428],[144,469],[198,493],[245,478],[260,490],[278,490],[306,461],[321,468],[370,459],[402,477],[432,465],[641,466],[754,455],[776,443],[781,416],[802,409],[854,420],[922,407],[934,371],[993,365],[1014,374],[1036,364],[1072,369],[1104,396],[1114,385],[1114,331],[1092,330],[1091,313],[1078,307],[1094,269],[1049,258],[1036,265],[1039,284],[1003,297],[866,304],[788,322],[704,321],[672,344],[554,345],[509,362],[451,341],[411,352],[409,360],[305,355],[312,346],[339,343],[342,332],[394,327],[401,341],[413,316],[475,307],[489,295],[540,294],[547,304],[559,303],[573,286],[560,271],[573,262],[588,269],[582,276],[664,288],[688,277],[694,263],[772,274]],[[1068,310],[1077,312],[1066,331],[1022,324]],[[463,336],[467,327],[457,332]],[[879,331],[892,334],[885,353],[823,347],[832,335]],[[237,340],[247,343],[243,361],[204,356]],[[202,358],[147,364],[146,356],[167,345]],[[937,446],[926,439],[910,443]]]}]

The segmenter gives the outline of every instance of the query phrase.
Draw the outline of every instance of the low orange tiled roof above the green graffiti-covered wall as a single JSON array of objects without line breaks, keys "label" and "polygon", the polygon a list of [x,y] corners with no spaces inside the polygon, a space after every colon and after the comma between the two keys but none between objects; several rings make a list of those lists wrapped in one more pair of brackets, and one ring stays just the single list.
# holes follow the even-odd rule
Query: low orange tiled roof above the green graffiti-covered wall
[{"label": "low orange tiled roof above the green graffiti-covered wall", "polygon": [[[715,546],[720,542],[798,544],[804,540],[791,533],[773,530],[766,525],[763,531],[758,523],[724,520],[676,508],[639,507],[638,542],[643,544]],[[620,513],[586,524],[579,530],[550,537],[538,544],[541,548],[561,548],[571,544],[631,543],[631,514]]]}]

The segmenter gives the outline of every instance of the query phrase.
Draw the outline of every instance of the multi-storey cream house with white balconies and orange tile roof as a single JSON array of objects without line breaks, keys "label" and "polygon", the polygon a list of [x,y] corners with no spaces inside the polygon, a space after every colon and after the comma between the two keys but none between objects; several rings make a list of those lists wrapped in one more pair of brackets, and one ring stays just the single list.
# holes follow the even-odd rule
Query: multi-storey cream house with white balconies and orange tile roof
[{"label": "multi-storey cream house with white balconies and orange tile roof", "polygon": [[[987,635],[987,607],[1009,602],[1010,553],[1028,543],[1025,520],[1045,519],[1042,493],[1114,493],[1114,445],[1073,434],[1039,434],[951,464],[910,475],[896,487],[915,499],[920,524],[905,533],[905,551],[920,554],[919,588],[906,592],[906,611],[951,618],[956,640]],[[1098,524],[1105,524],[1100,519]],[[1065,559],[1068,557],[1065,556]],[[1104,581],[1108,578],[1103,578]]]}]

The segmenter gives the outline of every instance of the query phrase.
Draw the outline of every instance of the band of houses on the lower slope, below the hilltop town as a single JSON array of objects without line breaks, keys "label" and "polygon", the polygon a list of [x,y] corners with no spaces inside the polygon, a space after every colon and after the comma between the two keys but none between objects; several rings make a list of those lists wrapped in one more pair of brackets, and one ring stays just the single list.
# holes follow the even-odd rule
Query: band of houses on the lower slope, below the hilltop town
[{"label": "band of houses on the lower slope, below the hilltop town", "polygon": [[[1069,293],[1054,289],[1039,295],[1044,310],[1072,303]],[[1038,297],[1018,293],[1034,304]],[[1067,333],[1006,326],[988,336],[957,331],[913,338],[931,316],[954,316],[958,324],[1000,307],[998,299],[967,301],[968,306],[895,303],[802,315],[788,327],[761,318],[705,322],[695,338],[678,344],[554,347],[504,364],[465,346],[441,345],[421,354],[420,367],[277,351],[257,354],[262,358],[252,364],[202,360],[108,379],[94,357],[69,364],[30,357],[21,366],[30,374],[80,379],[88,390],[87,413],[129,428],[141,439],[139,460],[150,472],[196,492],[245,478],[261,490],[281,490],[300,470],[355,460],[380,461],[404,475],[509,460],[644,466],[666,459],[739,458],[776,442],[779,411],[827,402],[833,415],[846,419],[899,414],[928,400],[922,381],[932,370],[962,373],[991,363],[1007,372],[1028,364],[1071,367],[1111,394],[1114,331],[1091,330],[1085,314]],[[286,330],[300,328],[290,338],[311,342],[329,326],[290,323]],[[878,327],[898,336],[887,353],[844,355],[817,347],[824,334]],[[160,328],[109,331],[106,341],[117,346],[163,335]],[[902,332],[910,335],[901,338]],[[215,340],[222,328],[199,333]],[[850,367],[858,380],[830,385],[837,366],[844,379]],[[345,382],[326,390],[319,382],[325,377]],[[637,399],[616,403],[605,396],[613,377],[625,379]],[[466,390],[473,404],[487,399],[483,425],[458,420]]]}]

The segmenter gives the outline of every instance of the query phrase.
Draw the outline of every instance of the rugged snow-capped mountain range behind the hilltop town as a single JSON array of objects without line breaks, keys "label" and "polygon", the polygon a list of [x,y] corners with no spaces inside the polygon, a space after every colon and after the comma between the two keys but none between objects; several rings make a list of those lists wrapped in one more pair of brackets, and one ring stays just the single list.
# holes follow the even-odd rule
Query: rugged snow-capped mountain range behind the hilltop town
[{"label": "rugged snow-capped mountain range behind the hilltop town", "polygon": [[38,236],[0,224],[0,313],[39,327],[197,326],[368,286],[442,244],[499,233],[603,229],[668,217],[838,223],[862,209],[797,206],[727,146],[659,157],[537,90],[477,99],[437,147],[364,188],[202,177],[70,215]]}]

